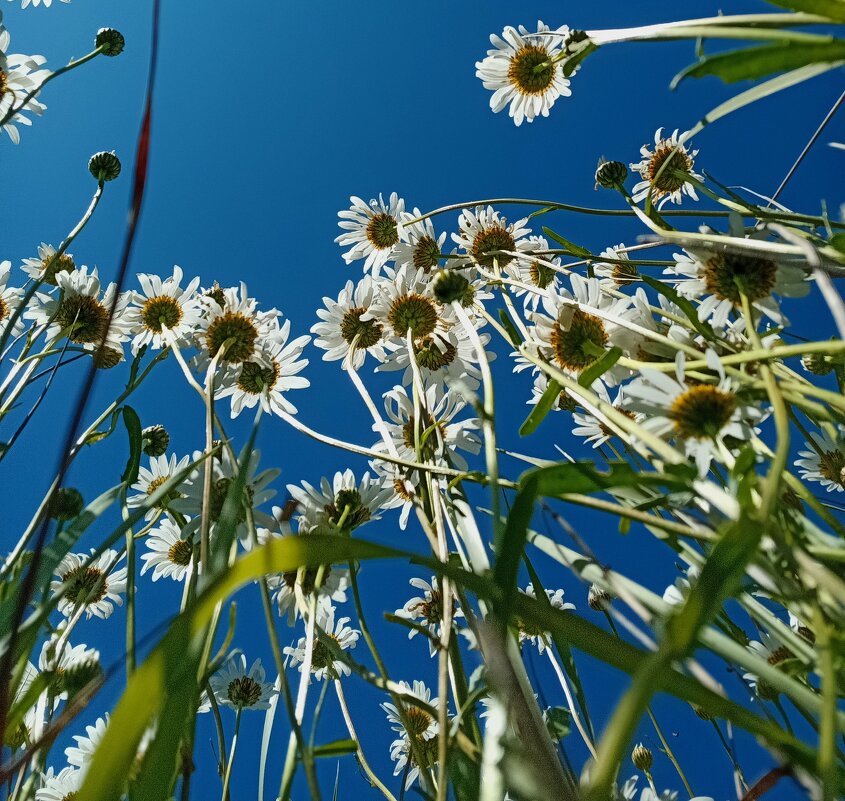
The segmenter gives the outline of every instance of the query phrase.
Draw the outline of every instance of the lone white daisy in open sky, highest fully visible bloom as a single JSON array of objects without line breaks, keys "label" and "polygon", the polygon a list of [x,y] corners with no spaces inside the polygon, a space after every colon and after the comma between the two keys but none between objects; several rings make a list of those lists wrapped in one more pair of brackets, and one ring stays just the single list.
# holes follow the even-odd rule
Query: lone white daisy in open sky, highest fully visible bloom
[{"label": "lone white daisy in open sky, highest fully visible bloom", "polygon": [[551,31],[538,21],[536,32],[509,25],[501,37],[491,35],[493,49],[475,65],[476,77],[493,91],[490,108],[499,112],[509,105],[508,115],[517,126],[539,115],[548,117],[559,97],[572,94],[561,63],[568,34],[566,26]]}]

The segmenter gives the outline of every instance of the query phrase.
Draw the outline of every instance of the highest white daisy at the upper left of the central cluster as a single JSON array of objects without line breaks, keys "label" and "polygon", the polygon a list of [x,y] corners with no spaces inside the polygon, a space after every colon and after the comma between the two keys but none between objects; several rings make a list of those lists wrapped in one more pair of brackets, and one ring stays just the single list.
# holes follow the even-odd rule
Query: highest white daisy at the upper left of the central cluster
[{"label": "highest white daisy at the upper left of the central cluster", "polygon": [[351,264],[356,259],[364,259],[364,272],[377,276],[400,242],[405,241],[402,218],[405,201],[396,192],[390,195],[389,203],[384,197],[365,203],[354,195],[349,198],[352,205],[348,210],[339,211],[338,225],[346,232],[335,239],[341,247],[349,246],[343,254],[343,260]]}]

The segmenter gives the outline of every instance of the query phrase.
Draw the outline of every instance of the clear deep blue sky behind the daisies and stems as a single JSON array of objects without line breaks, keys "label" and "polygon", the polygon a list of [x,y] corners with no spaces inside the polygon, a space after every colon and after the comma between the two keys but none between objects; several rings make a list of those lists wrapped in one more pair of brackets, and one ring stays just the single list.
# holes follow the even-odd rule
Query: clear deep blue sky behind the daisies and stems
[{"label": "clear deep blue sky behind the daisies and stems", "polygon": [[[212,280],[223,285],[244,280],[264,307],[280,308],[291,319],[294,332],[301,334],[315,322],[320,298],[336,296],[347,278],[360,275],[358,264],[344,265],[333,241],[337,211],[345,207],[350,194],[366,199],[397,191],[409,207],[423,210],[496,196],[616,206],[614,197],[593,189],[599,156],[635,161],[640,145],[653,140],[655,128],[689,128],[736,88],[708,80],[689,82],[670,93],[672,75],[693,59],[691,43],[617,46],[586,62],[573,80],[572,97],[558,101],[549,119],[517,129],[506,114],[490,112],[489,94],[474,76],[474,63],[487,49],[488,35],[507,24],[531,26],[538,18],[552,26],[621,27],[668,21],[670,13],[674,19],[714,14],[718,5],[700,0],[670,7],[652,0],[569,5],[548,0],[520,4],[438,0],[401,6],[382,0],[165,3],[147,200],[130,270],[165,274],[179,264],[186,275],[200,275],[204,286]],[[48,110],[31,130],[22,131],[22,144],[14,148],[3,142],[2,258],[17,265],[34,255],[41,241],[58,244],[94,189],[86,170],[88,157],[98,150],[116,149],[123,158],[124,176],[107,187],[95,218],[71,248],[78,263],[97,265],[104,276],[115,273],[147,68],[148,6],[74,0],[70,5],[54,2],[51,9],[21,11],[5,4],[12,51],[44,53],[48,66],[57,67],[87,52],[101,26],[121,30],[127,48],[119,58],[98,58],[51,85],[43,97]],[[770,8],[762,2],[739,2],[723,10]],[[764,194],[774,191],[840,91],[841,73],[829,73],[727,118],[696,139],[701,151],[697,165],[732,185]],[[834,120],[811,152],[782,197],[787,205],[814,213],[824,198],[832,213],[838,209],[842,155],[824,146],[830,140],[845,140],[845,118]],[[630,243],[639,233],[625,220],[562,214],[543,220],[596,251]],[[449,217],[438,228],[453,224],[454,217]],[[833,332],[819,308],[810,302],[794,315],[796,327],[809,337]],[[326,433],[369,444],[373,436],[366,410],[347,379],[336,366],[322,363],[315,348],[309,348],[307,355],[312,386],[293,399],[302,419]],[[508,381],[500,384],[504,389],[499,391],[503,445],[539,448],[544,453],[553,442],[566,445],[569,429],[555,421],[545,424],[542,444],[520,443],[516,428],[530,388],[525,381],[509,380],[508,370],[501,359],[497,376]],[[166,425],[175,452],[188,453],[203,441],[201,409],[175,365],[165,365],[161,372],[134,405],[144,425]],[[81,370],[67,371],[62,389],[44,403],[17,454],[7,461],[7,475],[26,477],[14,482],[14,492],[11,483],[4,482],[7,504],[12,505],[8,522],[15,524],[7,531],[15,531],[26,519],[46,488],[74,397],[72,389],[81,376]],[[107,402],[115,386],[115,377],[103,376],[90,408]],[[388,387],[381,378],[371,384],[374,393]],[[243,433],[245,422],[233,425],[232,431]],[[260,447],[262,463],[283,471],[278,485],[282,493],[286,482],[313,483],[347,465],[359,471],[365,467],[342,452],[304,440],[278,420],[265,421]],[[44,454],[43,466],[35,471],[33,453]],[[124,458],[125,444],[114,437],[80,459],[73,479],[91,497],[117,483]],[[104,464],[114,467],[106,470]],[[513,463],[505,469],[509,475],[521,471]],[[570,517],[576,527],[585,520],[579,514]],[[612,566],[659,589],[676,575],[671,554],[657,550],[643,532],[620,537],[612,521],[602,520],[599,527],[590,521],[591,528],[586,529],[590,545]],[[400,532],[393,519],[371,527],[367,536],[424,548],[419,533]],[[536,561],[547,586],[567,587],[570,600],[585,607],[583,588],[539,557]],[[411,575],[403,565],[365,566],[361,580],[372,621],[404,603],[409,597],[405,582]],[[165,587],[161,581],[152,585],[146,579],[140,581],[142,632],[160,623],[178,604],[175,587]],[[261,645],[265,638],[254,590],[241,593],[238,609],[236,642],[250,660],[261,656],[269,665],[269,650]],[[79,631],[104,654],[113,654],[109,639],[122,637],[122,620],[116,615],[106,624],[89,624]],[[389,649],[395,678],[434,681],[434,663],[421,641],[406,646],[401,631],[381,622],[376,631],[385,642],[390,637],[402,639],[400,647]],[[283,632],[283,636],[294,635]],[[363,650],[362,645],[357,655],[366,661]],[[545,665],[534,661],[549,703],[561,703],[559,688],[556,693]],[[601,721],[625,685],[599,665],[587,660],[583,665],[595,699],[594,717]],[[116,696],[119,684],[115,682],[104,701]],[[389,773],[390,732],[376,707],[380,699],[368,687],[354,686],[352,715],[359,721],[368,758],[381,774]],[[327,707],[318,740],[344,736],[336,704],[329,701]],[[717,799],[729,797],[729,764],[715,736],[705,732],[699,739],[691,734],[701,730],[684,705],[659,699],[655,709],[666,729],[679,732],[673,747],[696,790]],[[83,719],[90,722],[88,718],[100,712],[97,707]],[[234,783],[238,801],[255,794],[262,722],[257,714],[244,721]],[[198,735],[196,797],[219,792],[207,744],[208,723],[203,722]],[[643,736],[656,746],[646,728]],[[274,740],[276,754],[285,740],[280,732]],[[750,742],[741,745],[751,776],[769,764],[767,758],[753,755]],[[574,738],[568,748],[580,764],[583,754]],[[271,786],[280,759],[273,766]],[[327,795],[334,771],[332,762],[321,774]],[[368,795],[350,758],[341,762],[340,771],[342,798],[376,797],[374,792]],[[659,760],[655,775],[661,787],[678,784],[665,758]],[[770,797],[788,798],[790,791],[784,787]]]}]

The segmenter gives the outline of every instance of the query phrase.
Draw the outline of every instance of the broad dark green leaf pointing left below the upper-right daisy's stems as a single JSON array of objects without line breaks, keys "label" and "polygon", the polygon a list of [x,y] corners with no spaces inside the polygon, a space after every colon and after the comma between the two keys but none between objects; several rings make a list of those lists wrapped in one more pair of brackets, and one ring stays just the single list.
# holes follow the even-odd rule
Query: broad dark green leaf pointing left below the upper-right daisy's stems
[{"label": "broad dark green leaf pointing left below the upper-right daisy's stems", "polygon": [[787,72],[809,64],[829,64],[845,58],[845,41],[782,42],[747,47],[705,56],[696,64],[681,70],[673,79],[674,89],[685,78],[715,75],[725,83],[757,80],[773,72]]}]

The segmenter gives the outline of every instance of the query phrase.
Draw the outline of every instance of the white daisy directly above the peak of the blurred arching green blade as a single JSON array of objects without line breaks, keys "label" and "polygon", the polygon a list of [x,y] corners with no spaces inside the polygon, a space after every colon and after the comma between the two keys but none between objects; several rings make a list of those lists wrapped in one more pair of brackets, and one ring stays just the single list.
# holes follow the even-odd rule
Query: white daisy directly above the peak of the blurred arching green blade
[{"label": "white daisy directly above the peak of the blurred arching green blade", "polygon": [[381,482],[364,473],[359,482],[350,469],[320,480],[320,488],[307,481],[302,486],[288,484],[288,492],[297,501],[297,522],[300,534],[332,534],[343,516],[344,528],[352,530],[370,520],[378,520],[379,508],[390,497]]}]

